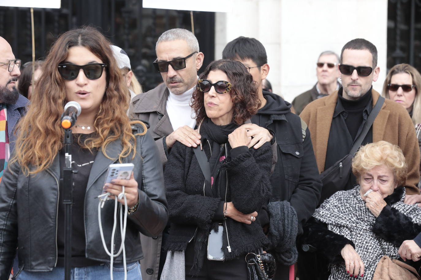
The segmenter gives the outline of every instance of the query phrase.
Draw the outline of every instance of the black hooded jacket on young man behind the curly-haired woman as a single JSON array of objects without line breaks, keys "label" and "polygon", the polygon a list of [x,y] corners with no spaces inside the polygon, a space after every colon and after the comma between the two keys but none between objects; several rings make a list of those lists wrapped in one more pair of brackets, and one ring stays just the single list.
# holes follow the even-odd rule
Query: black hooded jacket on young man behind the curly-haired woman
[{"label": "black hooded jacket on young man behind the curly-haired woman", "polygon": [[290,202],[296,210],[301,234],[316,209],[322,189],[310,131],[305,129],[303,141],[301,118],[291,113],[290,103],[270,92],[263,92],[263,96],[267,102],[251,122],[271,129],[276,135],[277,163],[270,177],[270,200]]}]

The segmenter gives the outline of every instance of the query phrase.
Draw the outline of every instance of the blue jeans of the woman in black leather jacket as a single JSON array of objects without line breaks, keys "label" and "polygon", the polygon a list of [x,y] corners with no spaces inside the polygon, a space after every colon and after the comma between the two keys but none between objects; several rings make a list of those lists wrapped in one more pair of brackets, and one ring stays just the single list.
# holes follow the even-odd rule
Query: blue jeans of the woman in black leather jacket
[{"label": "blue jeans of the woman in black leather jacket", "polygon": [[[113,264],[114,280],[124,279],[123,264]],[[72,280],[103,280],[110,279],[109,264],[93,265],[89,267],[73,267],[71,272]],[[54,267],[52,271],[48,272],[28,272],[22,270],[16,278],[17,280],[57,280],[64,279],[64,267]],[[127,264],[127,279],[128,280],[142,280],[140,273],[139,262],[132,262]]]}]

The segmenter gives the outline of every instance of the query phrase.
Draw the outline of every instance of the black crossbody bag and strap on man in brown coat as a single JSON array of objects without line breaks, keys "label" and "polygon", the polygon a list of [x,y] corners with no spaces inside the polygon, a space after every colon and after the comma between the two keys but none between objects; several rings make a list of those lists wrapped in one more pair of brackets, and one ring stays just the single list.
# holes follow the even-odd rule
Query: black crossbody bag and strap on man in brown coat
[{"label": "black crossbody bag and strap on man in brown coat", "polygon": [[380,112],[383,103],[384,97],[379,96],[376,105],[374,105],[373,110],[368,116],[367,121],[365,122],[357,140],[354,142],[351,151],[349,151],[349,154],[335,162],[334,165],[320,174],[323,187],[318,206],[320,206],[320,204],[322,204],[323,201],[328,199],[332,194],[345,189],[351,173],[352,158],[360,148],[362,141],[370,130],[370,127],[373,125],[373,122],[376,119],[378,112]]}]

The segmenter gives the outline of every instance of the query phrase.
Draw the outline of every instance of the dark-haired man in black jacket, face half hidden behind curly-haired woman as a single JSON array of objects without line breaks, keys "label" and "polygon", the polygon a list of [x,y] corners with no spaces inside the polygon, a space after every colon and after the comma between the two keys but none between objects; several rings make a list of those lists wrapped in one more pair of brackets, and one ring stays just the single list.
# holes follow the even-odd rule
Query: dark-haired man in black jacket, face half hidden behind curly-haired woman
[{"label": "dark-haired man in black jacket, face half hidden behind curly-haired woman", "polygon": [[[272,279],[289,279],[290,276],[293,277],[290,265],[296,262],[298,254],[296,235],[303,232],[306,220],[316,209],[322,187],[310,132],[300,117],[291,113],[290,103],[285,102],[277,94],[263,91],[262,81],[269,73],[269,65],[266,50],[261,42],[254,38],[238,37],[226,44],[222,58],[240,61],[258,85],[261,107],[251,118],[250,128],[261,126],[273,131],[275,135],[277,162],[270,177],[272,196],[269,203],[268,237],[272,250],[269,252],[277,260],[277,272]],[[296,218],[285,215],[288,211],[279,207],[280,201],[289,202],[286,207],[296,213]],[[296,228],[295,235],[280,235],[280,232],[289,232],[280,225],[291,225]],[[267,224],[262,226],[266,228]],[[286,255],[288,257],[285,257]]]}]

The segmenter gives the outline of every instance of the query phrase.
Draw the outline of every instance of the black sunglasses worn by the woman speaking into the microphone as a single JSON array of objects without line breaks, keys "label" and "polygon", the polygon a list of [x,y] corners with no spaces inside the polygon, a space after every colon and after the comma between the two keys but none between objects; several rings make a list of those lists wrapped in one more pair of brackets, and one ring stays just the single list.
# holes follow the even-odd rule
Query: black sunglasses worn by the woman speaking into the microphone
[{"label": "black sunglasses worn by the woman speaking into the microphone", "polygon": [[80,69],[83,69],[86,78],[90,80],[99,79],[102,76],[102,71],[104,71],[105,67],[107,67],[107,64],[104,63],[90,63],[85,65],[59,64],[57,66],[61,77],[69,81],[77,78]]}]

